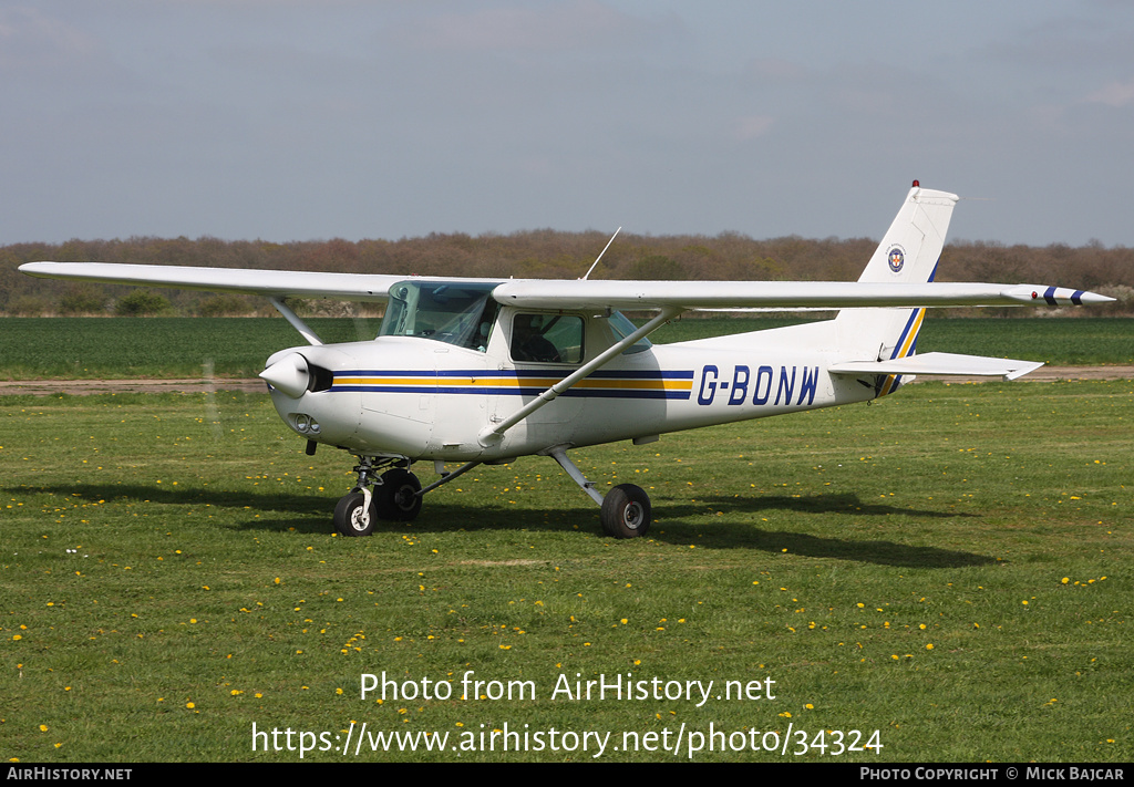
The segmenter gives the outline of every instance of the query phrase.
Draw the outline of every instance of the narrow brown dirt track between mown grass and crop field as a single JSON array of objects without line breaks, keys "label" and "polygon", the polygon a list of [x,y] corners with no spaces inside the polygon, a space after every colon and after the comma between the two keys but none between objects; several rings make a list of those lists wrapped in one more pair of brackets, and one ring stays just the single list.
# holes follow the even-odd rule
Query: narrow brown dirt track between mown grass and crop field
[{"label": "narrow brown dirt track between mown grass and crop field", "polygon": [[[941,382],[999,382],[999,378],[922,378]],[[1042,366],[1017,382],[1052,380],[1134,380],[1134,366]],[[0,380],[0,396],[32,394],[201,394],[208,391],[263,391],[263,380]]]}]

